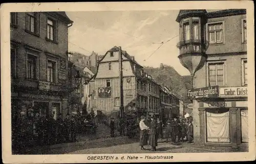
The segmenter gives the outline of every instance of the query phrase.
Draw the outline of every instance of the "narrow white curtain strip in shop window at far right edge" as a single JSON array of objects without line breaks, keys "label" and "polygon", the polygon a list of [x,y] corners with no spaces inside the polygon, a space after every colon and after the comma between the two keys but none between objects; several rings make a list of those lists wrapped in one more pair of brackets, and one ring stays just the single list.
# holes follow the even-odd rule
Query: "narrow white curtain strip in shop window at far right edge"
[{"label": "narrow white curtain strip in shop window at far right edge", "polygon": [[241,111],[242,142],[248,143],[248,111]]}]

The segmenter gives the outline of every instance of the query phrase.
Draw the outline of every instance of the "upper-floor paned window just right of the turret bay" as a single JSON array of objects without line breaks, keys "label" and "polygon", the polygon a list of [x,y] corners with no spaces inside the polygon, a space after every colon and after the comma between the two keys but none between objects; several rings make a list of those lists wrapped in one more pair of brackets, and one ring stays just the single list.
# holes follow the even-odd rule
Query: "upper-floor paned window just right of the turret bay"
[{"label": "upper-floor paned window just right of the turret bay", "polygon": [[209,43],[223,43],[223,23],[208,24]]}]

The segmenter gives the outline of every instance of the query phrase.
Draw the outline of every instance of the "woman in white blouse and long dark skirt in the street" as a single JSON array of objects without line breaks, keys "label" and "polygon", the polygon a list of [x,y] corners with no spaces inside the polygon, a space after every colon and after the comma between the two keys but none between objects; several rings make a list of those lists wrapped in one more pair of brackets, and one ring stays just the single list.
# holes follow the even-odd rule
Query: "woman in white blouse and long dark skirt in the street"
[{"label": "woman in white blouse and long dark skirt in the street", "polygon": [[141,116],[140,117],[140,146],[141,146],[141,150],[145,150],[145,148],[143,147],[144,145],[147,145],[147,130],[149,129],[145,123],[145,117]]}]

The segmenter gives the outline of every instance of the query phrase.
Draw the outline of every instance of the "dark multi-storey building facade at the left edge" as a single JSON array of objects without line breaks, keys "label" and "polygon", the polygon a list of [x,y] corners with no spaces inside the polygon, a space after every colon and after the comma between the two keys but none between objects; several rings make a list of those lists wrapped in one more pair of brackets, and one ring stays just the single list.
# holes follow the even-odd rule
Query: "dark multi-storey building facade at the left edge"
[{"label": "dark multi-storey building facade at the left edge", "polygon": [[33,108],[39,115],[67,113],[68,28],[65,12],[11,13],[12,119]]}]

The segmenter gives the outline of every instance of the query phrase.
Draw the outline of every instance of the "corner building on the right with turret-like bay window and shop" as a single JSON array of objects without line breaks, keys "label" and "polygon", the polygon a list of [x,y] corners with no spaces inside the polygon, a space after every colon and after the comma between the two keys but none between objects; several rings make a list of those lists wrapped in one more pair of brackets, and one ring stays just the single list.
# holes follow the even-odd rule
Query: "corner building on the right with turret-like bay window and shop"
[{"label": "corner building on the right with turret-like bay window and shop", "polygon": [[246,10],[181,10],[179,59],[193,77],[194,142],[247,146]]}]

